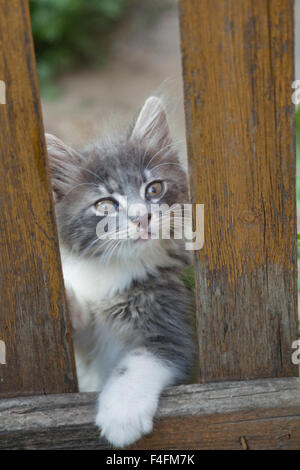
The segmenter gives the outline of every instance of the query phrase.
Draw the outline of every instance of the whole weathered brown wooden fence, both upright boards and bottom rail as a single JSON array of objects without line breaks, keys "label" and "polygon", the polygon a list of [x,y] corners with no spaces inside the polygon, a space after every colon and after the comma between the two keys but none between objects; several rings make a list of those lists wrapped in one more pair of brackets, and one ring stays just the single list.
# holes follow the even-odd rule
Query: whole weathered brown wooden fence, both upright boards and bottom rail
[{"label": "whole weathered brown wooden fence, both upright boards and bottom rail", "polygon": [[[179,2],[202,383],[168,389],[133,449],[300,448],[293,7]],[[76,393],[27,1],[0,0],[0,47],[0,448],[103,449]]]}]

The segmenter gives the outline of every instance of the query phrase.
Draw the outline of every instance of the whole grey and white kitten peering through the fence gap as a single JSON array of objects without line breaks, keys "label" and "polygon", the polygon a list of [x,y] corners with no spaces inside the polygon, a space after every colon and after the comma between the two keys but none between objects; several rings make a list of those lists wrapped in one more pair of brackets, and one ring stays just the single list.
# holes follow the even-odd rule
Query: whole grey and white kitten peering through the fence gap
[{"label": "whole grey and white kitten peering through the fence gap", "polygon": [[[47,135],[47,147],[79,388],[101,392],[96,424],[123,447],[152,430],[162,390],[193,368],[193,300],[181,277],[190,257],[182,240],[150,238],[164,224],[151,204],[188,202],[186,174],[156,97],[126,136],[77,152]],[[128,216],[136,239],[96,234],[104,214],[136,203],[148,214],[146,229]]]}]

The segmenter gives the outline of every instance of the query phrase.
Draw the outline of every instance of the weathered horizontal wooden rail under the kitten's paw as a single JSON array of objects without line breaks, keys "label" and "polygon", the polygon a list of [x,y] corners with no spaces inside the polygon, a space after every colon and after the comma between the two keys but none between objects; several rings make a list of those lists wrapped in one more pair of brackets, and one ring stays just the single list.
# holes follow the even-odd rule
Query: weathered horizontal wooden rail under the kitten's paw
[{"label": "weathered horizontal wooden rail under the kitten's paw", "polygon": [[[299,449],[300,379],[166,390],[154,431],[131,449]],[[108,449],[95,393],[0,401],[0,449]]]}]

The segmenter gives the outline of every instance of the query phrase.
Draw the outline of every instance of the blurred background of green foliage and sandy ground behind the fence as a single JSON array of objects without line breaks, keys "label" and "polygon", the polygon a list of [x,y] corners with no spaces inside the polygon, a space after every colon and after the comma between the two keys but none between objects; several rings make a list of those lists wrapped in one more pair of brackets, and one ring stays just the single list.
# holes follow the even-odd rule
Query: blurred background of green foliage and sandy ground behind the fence
[{"label": "blurred background of green foliage and sandy ground behind the fence", "polygon": [[[176,0],[29,3],[47,132],[82,146],[108,121],[130,122],[148,96],[166,93],[176,104],[175,139],[184,140]],[[300,0],[295,0],[295,46],[295,79],[300,79]],[[300,107],[296,127],[300,233]],[[183,157],[184,149],[183,143]],[[300,259],[300,240],[298,245]]]}]

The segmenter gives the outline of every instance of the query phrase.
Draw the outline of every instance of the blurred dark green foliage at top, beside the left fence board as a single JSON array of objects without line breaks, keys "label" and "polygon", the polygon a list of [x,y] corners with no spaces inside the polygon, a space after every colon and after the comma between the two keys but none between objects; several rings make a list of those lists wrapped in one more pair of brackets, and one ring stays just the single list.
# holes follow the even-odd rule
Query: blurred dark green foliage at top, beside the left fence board
[{"label": "blurred dark green foliage at top, beside the left fence board", "polygon": [[[129,0],[29,0],[40,85],[73,65],[101,63]],[[96,41],[96,39],[99,39]]]}]

